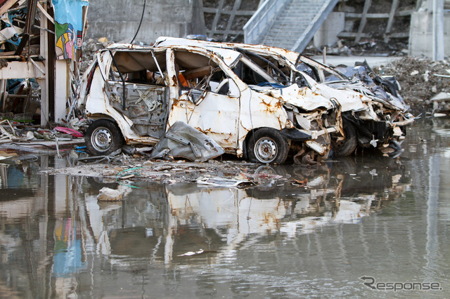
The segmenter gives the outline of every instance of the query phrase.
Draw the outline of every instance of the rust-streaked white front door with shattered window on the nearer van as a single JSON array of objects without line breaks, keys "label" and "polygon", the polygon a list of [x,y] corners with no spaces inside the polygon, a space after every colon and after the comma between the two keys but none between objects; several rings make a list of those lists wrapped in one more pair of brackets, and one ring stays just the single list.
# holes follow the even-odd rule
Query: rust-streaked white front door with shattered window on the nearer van
[{"label": "rust-streaked white front door with shattered window on the nearer van", "polygon": [[236,153],[240,91],[221,68],[221,62],[207,54],[177,49],[175,67],[168,68],[168,72],[175,72],[169,78],[178,87],[179,96],[173,100],[168,126],[184,121],[208,135],[226,152]]}]

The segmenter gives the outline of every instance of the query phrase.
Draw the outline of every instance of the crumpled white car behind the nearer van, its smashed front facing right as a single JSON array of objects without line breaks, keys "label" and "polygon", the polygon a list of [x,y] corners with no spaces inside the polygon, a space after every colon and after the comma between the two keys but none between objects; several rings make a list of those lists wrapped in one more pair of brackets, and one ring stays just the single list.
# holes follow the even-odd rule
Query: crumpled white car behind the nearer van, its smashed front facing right
[{"label": "crumpled white car behind the nearer van, its smashed front facing right", "polygon": [[[248,56],[285,86],[309,85],[315,93],[335,98],[342,107],[345,138],[334,135],[335,154],[352,154],[356,147],[387,146],[399,150],[399,140],[406,135],[406,126],[414,121],[409,106],[399,95],[399,84],[393,77],[376,75],[366,63],[347,77],[334,67],[283,48],[263,45],[214,43],[162,36],[155,46],[197,45],[209,48],[232,48]],[[352,69],[352,68],[349,68]]]}]

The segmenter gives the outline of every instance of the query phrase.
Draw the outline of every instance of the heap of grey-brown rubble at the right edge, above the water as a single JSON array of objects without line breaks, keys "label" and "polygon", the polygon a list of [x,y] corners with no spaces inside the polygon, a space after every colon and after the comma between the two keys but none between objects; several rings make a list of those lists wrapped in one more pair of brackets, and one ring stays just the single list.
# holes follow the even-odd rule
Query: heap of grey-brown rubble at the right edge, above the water
[{"label": "heap of grey-brown rubble at the right edge, above the water", "polygon": [[395,76],[401,86],[401,96],[416,116],[450,110],[450,97],[448,101],[432,100],[439,93],[450,93],[449,61],[404,57],[375,67],[374,71],[380,76]]}]

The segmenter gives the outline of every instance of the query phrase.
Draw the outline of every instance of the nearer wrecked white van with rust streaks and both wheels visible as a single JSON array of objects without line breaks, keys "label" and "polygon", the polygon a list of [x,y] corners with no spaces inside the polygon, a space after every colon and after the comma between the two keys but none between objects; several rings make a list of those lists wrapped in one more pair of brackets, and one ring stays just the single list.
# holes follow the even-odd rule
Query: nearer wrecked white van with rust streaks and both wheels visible
[{"label": "nearer wrecked white van with rust streaks and both wheels visible", "polygon": [[214,52],[128,44],[99,51],[78,102],[94,121],[86,130],[89,152],[109,154],[124,142],[154,145],[182,121],[250,161],[283,163],[290,149],[328,154],[329,133],[340,131],[333,102],[307,87],[281,91],[242,54]]}]

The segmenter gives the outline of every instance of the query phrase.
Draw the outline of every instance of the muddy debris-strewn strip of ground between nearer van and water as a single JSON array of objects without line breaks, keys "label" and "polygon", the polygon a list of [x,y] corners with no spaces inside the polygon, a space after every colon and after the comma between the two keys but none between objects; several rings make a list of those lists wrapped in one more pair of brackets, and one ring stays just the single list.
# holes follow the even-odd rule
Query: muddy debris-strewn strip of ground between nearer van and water
[{"label": "muddy debris-strewn strip of ground between nearer van and water", "polygon": [[[241,161],[228,155],[202,163],[183,159],[150,161],[146,156],[127,154],[117,155],[109,161],[92,159],[82,162],[77,161],[78,158],[80,157],[77,157],[75,151],[71,151],[65,158],[60,159],[59,162],[63,163],[56,160],[55,167],[46,168],[41,173],[88,176],[98,178],[102,182],[120,182],[121,185],[131,186],[136,180],[165,184],[198,182],[203,185],[238,187],[270,187],[280,183],[304,186],[307,182],[295,180],[286,173],[279,173],[271,166]],[[297,168],[304,169],[304,173],[328,169],[325,164]]]}]

